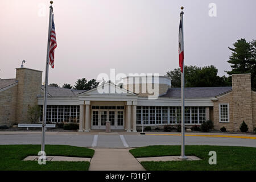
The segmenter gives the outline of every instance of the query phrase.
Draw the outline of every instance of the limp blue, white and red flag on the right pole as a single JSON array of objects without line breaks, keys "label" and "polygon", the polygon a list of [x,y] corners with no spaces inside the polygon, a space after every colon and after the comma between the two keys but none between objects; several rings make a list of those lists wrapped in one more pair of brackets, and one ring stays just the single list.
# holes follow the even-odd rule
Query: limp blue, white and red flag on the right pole
[{"label": "limp blue, white and red flag on the right pole", "polygon": [[183,13],[180,14],[180,28],[179,28],[179,65],[180,70],[183,72],[184,62],[184,43],[183,43]]}]

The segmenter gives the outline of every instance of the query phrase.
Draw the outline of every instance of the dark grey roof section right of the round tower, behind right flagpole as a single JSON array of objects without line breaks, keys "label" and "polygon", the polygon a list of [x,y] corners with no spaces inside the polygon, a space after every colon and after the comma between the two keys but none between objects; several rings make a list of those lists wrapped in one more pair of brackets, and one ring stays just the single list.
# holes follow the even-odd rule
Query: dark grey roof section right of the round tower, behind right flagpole
[{"label": "dark grey roof section right of the round tower, behind right flagpole", "polygon": [[[213,98],[232,90],[232,86],[185,88],[185,98]],[[181,98],[181,88],[169,88],[160,97]]]}]

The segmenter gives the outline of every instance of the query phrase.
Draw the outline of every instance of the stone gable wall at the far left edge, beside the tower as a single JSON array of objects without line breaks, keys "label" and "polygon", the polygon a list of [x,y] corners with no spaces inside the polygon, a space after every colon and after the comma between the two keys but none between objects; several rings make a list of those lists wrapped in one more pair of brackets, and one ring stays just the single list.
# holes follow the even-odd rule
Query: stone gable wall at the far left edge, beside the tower
[{"label": "stone gable wall at the far left edge, beside the tower", "polygon": [[[0,126],[15,123],[17,85],[0,92]],[[3,106],[3,107],[2,107]]]}]

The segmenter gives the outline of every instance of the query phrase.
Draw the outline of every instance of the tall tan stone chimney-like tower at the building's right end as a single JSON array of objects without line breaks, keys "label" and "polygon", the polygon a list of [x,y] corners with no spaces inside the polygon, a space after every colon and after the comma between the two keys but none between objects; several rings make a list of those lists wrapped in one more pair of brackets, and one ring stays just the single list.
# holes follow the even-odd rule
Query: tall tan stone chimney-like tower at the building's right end
[{"label": "tall tan stone chimney-like tower at the building's right end", "polygon": [[253,110],[251,102],[251,74],[232,75],[234,131],[240,131],[243,121],[253,131]]}]

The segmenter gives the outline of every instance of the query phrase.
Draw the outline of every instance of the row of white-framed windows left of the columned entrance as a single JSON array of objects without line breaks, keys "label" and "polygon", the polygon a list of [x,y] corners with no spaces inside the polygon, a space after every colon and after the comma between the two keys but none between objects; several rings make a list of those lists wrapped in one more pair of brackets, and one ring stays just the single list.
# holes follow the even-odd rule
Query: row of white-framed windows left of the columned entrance
[{"label": "row of white-framed windows left of the columned entrance", "polygon": [[[79,122],[80,106],[47,105],[47,122]],[[43,105],[40,105],[40,121],[43,121]]]}]

